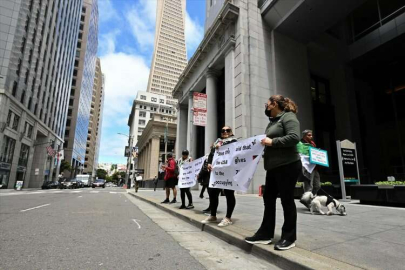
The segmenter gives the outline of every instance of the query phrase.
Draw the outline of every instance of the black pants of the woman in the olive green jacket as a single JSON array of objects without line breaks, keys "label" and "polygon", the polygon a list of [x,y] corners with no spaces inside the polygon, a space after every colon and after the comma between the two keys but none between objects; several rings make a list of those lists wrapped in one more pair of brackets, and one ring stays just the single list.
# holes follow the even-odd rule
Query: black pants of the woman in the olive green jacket
[{"label": "black pants of the woman in the olive green jacket", "polygon": [[266,238],[274,237],[276,226],[276,200],[280,194],[284,212],[281,239],[290,242],[297,240],[297,209],[294,202],[294,189],[301,173],[301,161],[277,167],[266,173],[266,189],[263,194],[264,215],[257,234]]}]

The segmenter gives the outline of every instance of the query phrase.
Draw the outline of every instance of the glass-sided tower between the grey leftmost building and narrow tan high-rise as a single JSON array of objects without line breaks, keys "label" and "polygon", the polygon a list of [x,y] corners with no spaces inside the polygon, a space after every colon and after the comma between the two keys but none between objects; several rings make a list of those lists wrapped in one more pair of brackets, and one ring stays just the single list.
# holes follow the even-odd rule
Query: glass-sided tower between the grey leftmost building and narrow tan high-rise
[{"label": "glass-sided tower between the grey leftmost building and narrow tan high-rise", "polygon": [[63,144],[65,160],[71,164],[72,170],[65,171],[65,177],[72,177],[83,172],[84,169],[97,59],[97,0],[83,1],[77,35],[76,58]]}]

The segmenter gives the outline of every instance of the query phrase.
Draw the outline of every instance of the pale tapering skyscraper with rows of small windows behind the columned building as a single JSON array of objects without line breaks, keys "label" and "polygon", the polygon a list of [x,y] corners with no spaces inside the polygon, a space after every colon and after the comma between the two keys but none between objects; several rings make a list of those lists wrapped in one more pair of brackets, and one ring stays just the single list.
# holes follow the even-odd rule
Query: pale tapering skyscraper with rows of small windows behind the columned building
[{"label": "pale tapering skyscraper with rows of small windows behind the columned building", "polygon": [[157,1],[155,47],[147,92],[169,97],[187,65],[186,0]]}]

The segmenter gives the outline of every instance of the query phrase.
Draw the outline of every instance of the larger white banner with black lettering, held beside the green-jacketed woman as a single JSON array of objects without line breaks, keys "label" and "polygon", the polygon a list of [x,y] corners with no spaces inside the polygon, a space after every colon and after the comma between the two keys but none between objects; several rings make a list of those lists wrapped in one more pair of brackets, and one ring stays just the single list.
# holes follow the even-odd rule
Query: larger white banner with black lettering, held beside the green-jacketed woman
[{"label": "larger white banner with black lettering, held beside the green-jacketed woman", "polygon": [[210,187],[246,192],[256,172],[266,135],[221,146],[212,160]]}]

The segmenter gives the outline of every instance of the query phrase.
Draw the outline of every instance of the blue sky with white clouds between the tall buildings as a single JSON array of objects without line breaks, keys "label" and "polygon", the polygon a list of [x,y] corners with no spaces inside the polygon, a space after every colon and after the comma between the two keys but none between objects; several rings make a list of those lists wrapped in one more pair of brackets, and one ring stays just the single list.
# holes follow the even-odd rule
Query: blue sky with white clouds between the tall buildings
[{"label": "blue sky with white clouds between the tall buildings", "polygon": [[[99,163],[125,164],[127,125],[137,91],[146,91],[155,39],[156,1],[98,0],[99,48],[105,75]],[[205,0],[186,0],[190,58],[204,35]]]}]

